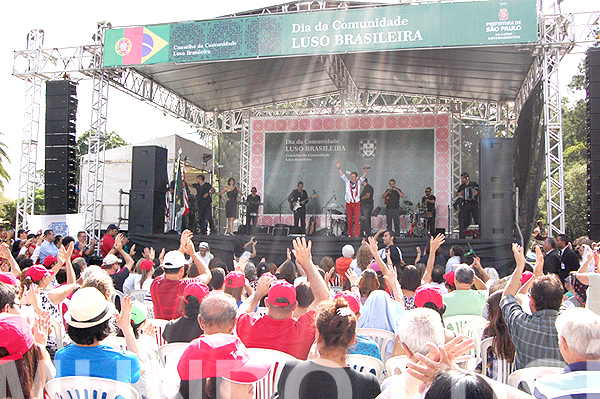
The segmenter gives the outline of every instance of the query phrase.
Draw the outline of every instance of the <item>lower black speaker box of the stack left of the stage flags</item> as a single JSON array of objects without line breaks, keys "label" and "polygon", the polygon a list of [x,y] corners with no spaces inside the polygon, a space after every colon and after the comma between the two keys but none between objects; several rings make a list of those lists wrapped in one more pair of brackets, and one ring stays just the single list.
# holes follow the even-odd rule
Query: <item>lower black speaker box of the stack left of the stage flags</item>
[{"label": "lower black speaker box of the stack left of the stage flags", "polygon": [[165,192],[131,190],[129,194],[129,233],[139,235],[165,232]]}]

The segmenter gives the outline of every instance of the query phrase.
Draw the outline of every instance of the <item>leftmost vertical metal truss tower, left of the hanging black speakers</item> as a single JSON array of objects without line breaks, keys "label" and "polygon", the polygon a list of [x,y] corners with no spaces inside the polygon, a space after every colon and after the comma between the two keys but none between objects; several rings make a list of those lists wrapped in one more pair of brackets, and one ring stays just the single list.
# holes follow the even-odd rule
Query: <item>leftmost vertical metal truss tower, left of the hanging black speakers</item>
[{"label": "leftmost vertical metal truss tower, left of the hanging black speakers", "polygon": [[21,163],[19,168],[19,196],[15,230],[27,228],[27,215],[33,215],[35,201],[35,167],[40,126],[40,101],[42,79],[36,75],[40,65],[44,31],[31,30],[27,35],[25,67],[29,70],[25,78],[25,121],[21,139]]}]

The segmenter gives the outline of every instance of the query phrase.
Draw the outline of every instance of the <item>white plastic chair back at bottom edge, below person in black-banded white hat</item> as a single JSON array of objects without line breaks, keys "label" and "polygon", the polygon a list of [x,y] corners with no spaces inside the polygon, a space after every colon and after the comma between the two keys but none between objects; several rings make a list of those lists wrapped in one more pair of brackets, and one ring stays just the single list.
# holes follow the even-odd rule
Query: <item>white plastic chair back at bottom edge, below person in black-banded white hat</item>
[{"label": "white plastic chair back at bottom edge, below person in black-banded white hat", "polygon": [[97,377],[55,378],[46,383],[46,391],[53,399],[139,399],[140,397],[138,391],[129,384]]}]

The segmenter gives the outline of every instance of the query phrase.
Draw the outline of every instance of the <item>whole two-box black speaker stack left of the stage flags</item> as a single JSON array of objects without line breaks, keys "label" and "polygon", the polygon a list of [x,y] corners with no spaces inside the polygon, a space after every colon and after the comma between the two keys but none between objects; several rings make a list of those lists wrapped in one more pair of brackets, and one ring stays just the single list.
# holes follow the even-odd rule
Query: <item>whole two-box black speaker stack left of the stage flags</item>
[{"label": "whole two-box black speaker stack left of the stage flags", "polygon": [[153,145],[133,147],[130,234],[164,233],[167,183],[167,149]]}]

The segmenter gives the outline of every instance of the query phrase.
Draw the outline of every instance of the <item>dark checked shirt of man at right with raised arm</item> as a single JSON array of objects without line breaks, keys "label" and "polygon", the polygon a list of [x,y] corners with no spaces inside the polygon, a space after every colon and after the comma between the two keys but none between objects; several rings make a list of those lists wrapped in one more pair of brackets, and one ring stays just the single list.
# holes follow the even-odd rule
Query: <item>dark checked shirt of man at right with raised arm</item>
[{"label": "dark checked shirt of man at right with raised arm", "polygon": [[500,308],[515,345],[515,370],[532,366],[564,367],[555,325],[557,310],[544,309],[529,315],[513,295],[502,298]]}]

